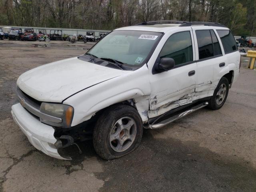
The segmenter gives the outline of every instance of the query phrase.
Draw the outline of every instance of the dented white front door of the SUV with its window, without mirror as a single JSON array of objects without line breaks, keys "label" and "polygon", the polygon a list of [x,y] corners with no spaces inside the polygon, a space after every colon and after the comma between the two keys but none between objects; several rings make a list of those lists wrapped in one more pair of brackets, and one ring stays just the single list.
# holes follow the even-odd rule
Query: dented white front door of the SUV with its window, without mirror
[{"label": "dented white front door of the SUV with its window, without mirror", "polygon": [[[190,28],[191,29],[191,28]],[[196,62],[194,61],[194,40],[192,30],[177,32],[166,40],[158,59],[173,58],[172,70],[150,74],[150,111],[148,117],[191,103],[196,88]]]}]

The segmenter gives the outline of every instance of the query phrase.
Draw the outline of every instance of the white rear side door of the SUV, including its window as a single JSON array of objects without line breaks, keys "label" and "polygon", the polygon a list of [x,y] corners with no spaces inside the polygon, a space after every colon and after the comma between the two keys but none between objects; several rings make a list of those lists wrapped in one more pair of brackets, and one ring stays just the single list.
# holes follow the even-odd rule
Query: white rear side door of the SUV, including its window
[{"label": "white rear side door of the SUV, including its window", "polygon": [[192,26],[196,47],[196,98],[212,96],[219,79],[214,78],[214,68],[225,66],[216,32],[208,26]]}]

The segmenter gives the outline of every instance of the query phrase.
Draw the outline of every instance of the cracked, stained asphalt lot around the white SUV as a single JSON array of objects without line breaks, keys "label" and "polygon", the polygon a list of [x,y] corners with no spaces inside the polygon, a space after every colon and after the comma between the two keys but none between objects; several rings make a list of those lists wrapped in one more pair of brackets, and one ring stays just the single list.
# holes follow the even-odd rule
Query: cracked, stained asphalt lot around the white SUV
[{"label": "cracked, stained asphalt lot around the white SUV", "polygon": [[92,141],[67,149],[73,160],[36,150],[11,117],[23,72],[83,54],[93,43],[0,41],[0,192],[255,192],[256,71],[246,68],[217,111],[203,108],[159,130],[141,145],[105,161]]}]

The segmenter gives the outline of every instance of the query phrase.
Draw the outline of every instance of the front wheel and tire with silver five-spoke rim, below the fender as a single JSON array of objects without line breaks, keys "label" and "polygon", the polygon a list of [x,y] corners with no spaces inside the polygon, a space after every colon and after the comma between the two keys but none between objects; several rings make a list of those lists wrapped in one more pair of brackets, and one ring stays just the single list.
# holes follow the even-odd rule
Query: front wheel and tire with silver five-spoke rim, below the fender
[{"label": "front wheel and tire with silver five-spoke rim, below the fender", "polygon": [[[122,125],[118,122],[122,122]],[[122,131],[120,131],[121,129]],[[110,106],[101,114],[95,124],[94,149],[105,160],[120,158],[139,146],[142,133],[142,120],[136,109],[127,105]],[[118,139],[113,139],[110,142],[111,137]],[[120,142],[123,144],[121,145]]]}]

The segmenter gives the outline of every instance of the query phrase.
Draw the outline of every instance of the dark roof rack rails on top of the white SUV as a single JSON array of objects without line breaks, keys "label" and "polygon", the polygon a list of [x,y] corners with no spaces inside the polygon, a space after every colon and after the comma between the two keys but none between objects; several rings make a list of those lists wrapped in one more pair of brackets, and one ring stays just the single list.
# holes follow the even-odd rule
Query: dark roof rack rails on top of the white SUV
[{"label": "dark roof rack rails on top of the white SUV", "polygon": [[188,21],[174,21],[174,20],[144,21],[142,23],[136,24],[135,26],[156,25],[156,24],[180,24],[179,25],[180,27],[192,26],[192,25],[226,27],[220,23],[214,23],[214,22],[188,22]]}]

